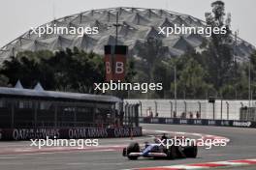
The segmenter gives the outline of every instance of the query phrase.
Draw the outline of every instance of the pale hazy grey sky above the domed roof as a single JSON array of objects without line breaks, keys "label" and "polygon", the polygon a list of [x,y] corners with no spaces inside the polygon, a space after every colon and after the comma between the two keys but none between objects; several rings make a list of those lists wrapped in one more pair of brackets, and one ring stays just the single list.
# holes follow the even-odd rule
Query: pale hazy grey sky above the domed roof
[{"label": "pale hazy grey sky above the domed roof", "polygon": [[[213,0],[1,0],[0,47],[18,36],[54,18],[78,14],[92,9],[135,7],[167,9],[190,14],[205,20]],[[256,1],[223,0],[226,12],[232,15],[232,30],[256,46]]]}]

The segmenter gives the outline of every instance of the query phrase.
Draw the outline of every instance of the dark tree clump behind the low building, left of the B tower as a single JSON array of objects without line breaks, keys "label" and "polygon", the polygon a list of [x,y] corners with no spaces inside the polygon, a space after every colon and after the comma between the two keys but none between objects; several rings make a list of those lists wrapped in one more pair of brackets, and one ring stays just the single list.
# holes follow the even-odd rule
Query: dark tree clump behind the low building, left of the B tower
[{"label": "dark tree clump behind the low building, left of the B tower", "polygon": [[104,81],[102,56],[78,48],[55,52],[25,51],[3,63],[1,75],[13,86],[19,79],[25,88],[41,82],[46,90],[94,93],[94,83]]}]

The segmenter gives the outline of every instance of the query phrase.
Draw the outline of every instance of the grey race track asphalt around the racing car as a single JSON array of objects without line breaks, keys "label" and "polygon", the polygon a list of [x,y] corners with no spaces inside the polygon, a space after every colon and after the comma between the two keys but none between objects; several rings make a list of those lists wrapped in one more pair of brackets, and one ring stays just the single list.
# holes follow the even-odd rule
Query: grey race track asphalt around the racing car
[{"label": "grey race track asphalt around the racing car", "polygon": [[[254,128],[220,128],[202,126],[177,126],[177,125],[142,125],[147,130],[181,131],[189,133],[204,133],[227,137],[230,142],[225,147],[213,147],[212,149],[199,149],[197,158],[176,160],[161,160],[140,158],[128,160],[121,156],[121,146],[128,144],[130,138],[100,139],[100,145],[116,146],[103,150],[90,151],[63,151],[63,152],[35,152],[35,153],[3,153],[1,150],[10,150],[19,147],[29,148],[29,141],[0,142],[0,170],[119,170],[140,167],[170,166],[197,162],[209,162],[220,160],[233,160],[256,157],[256,129]],[[134,141],[144,143],[152,140],[146,135],[134,138]],[[243,167],[244,169],[256,169],[254,166]],[[238,167],[237,169],[243,169]],[[227,168],[229,169],[229,168]],[[234,169],[234,168],[232,168]]]}]

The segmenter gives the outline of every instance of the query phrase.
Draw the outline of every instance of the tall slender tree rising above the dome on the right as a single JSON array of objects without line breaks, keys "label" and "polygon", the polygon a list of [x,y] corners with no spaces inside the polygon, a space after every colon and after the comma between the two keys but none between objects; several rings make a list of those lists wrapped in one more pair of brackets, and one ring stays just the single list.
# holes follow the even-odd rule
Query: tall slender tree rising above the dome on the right
[{"label": "tall slender tree rising above the dome on the right", "polygon": [[234,79],[233,69],[233,47],[230,14],[225,19],[225,4],[222,1],[215,1],[211,4],[212,13],[206,13],[206,20],[209,27],[213,28],[226,27],[225,34],[215,34],[211,32],[211,39],[208,43],[207,50],[203,53],[207,59],[207,69],[210,81],[215,89],[220,89],[224,83],[232,83]]}]

